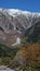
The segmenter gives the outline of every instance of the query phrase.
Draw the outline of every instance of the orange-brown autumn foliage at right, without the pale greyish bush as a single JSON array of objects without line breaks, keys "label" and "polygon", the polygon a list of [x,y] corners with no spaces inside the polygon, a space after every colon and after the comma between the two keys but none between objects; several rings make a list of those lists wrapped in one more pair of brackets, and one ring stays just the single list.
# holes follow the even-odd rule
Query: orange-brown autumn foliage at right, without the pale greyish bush
[{"label": "orange-brown autumn foliage at right, without the pale greyish bush", "polygon": [[40,63],[40,44],[27,44],[26,48],[22,49],[19,54],[19,57],[22,56],[25,59],[26,64],[29,64],[31,61]]}]

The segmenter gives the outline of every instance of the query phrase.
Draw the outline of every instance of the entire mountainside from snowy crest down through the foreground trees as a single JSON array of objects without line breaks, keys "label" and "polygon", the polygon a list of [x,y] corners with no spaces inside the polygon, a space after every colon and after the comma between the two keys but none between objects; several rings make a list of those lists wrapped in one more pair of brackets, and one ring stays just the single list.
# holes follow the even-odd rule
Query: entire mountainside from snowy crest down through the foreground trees
[{"label": "entire mountainside from snowy crest down through the foreground trees", "polygon": [[0,9],[0,66],[40,71],[40,13]]}]

